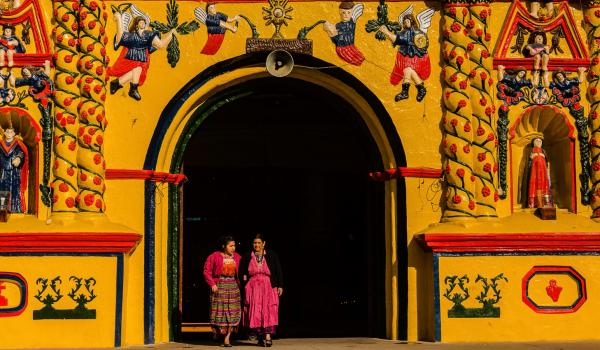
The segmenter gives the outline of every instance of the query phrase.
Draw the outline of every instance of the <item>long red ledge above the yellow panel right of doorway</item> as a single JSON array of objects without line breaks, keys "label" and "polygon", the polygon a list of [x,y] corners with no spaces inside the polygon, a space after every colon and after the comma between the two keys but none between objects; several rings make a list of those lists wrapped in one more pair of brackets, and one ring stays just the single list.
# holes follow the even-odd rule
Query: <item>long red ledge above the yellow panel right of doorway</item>
[{"label": "long red ledge above the yellow panel right of doorway", "polygon": [[434,253],[600,252],[600,232],[426,233],[416,239]]}]

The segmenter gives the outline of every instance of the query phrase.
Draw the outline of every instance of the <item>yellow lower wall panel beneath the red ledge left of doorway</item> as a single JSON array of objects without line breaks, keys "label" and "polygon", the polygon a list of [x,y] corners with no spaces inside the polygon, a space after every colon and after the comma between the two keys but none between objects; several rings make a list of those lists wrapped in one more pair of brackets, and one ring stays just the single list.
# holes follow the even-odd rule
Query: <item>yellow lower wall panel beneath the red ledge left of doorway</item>
[{"label": "yellow lower wall panel beneath the red ledge left of doorway", "polygon": [[[15,317],[0,317],[0,327],[4,336],[0,346],[8,348],[42,347],[112,347],[115,344],[115,310],[117,301],[115,257],[72,257],[72,256],[16,256],[0,257],[2,272],[17,272],[28,285],[27,307]],[[74,309],[77,304],[68,296],[75,282],[70,277],[96,280],[92,290],[97,296],[87,304],[88,309],[96,310],[95,319],[33,319],[34,310],[44,305],[35,298],[41,285],[39,278],[52,280],[60,277],[58,286],[63,295],[53,307]],[[41,297],[45,298],[49,288]],[[12,300],[20,298],[14,287],[2,293],[9,298],[8,307],[14,307]],[[79,293],[89,294],[80,289]]]}]

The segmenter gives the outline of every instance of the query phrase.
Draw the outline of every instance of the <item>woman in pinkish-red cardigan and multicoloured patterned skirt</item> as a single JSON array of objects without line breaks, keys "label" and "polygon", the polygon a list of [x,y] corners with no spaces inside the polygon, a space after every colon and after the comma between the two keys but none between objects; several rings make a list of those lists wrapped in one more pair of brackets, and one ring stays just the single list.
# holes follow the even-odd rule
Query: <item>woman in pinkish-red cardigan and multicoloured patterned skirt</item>
[{"label": "woman in pinkish-red cardigan and multicoloured patterned skirt", "polygon": [[204,280],[210,286],[210,324],[215,340],[223,336],[223,345],[231,347],[229,337],[241,320],[238,280],[241,256],[235,252],[233,237],[222,238],[221,250],[208,256],[204,264]]}]

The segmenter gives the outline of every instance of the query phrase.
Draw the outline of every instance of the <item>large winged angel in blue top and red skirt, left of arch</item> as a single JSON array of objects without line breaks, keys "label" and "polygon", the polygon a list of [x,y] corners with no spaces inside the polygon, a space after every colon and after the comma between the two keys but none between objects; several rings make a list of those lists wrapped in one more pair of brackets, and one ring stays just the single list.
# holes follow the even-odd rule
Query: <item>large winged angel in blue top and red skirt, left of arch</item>
[{"label": "large winged angel in blue top and red skirt, left of arch", "polygon": [[[128,12],[130,11],[130,12]],[[117,24],[114,48],[123,46],[119,58],[107,70],[108,76],[117,77],[110,82],[110,93],[114,94],[125,84],[129,85],[129,97],[141,100],[138,86],[144,84],[146,74],[150,67],[150,54],[158,49],[167,47],[173,38],[175,29],[171,29],[164,38],[160,38],[157,31],[146,30],[150,17],[141,12],[135,5],[128,11],[115,12],[114,19]],[[128,29],[128,31],[124,31]]]}]

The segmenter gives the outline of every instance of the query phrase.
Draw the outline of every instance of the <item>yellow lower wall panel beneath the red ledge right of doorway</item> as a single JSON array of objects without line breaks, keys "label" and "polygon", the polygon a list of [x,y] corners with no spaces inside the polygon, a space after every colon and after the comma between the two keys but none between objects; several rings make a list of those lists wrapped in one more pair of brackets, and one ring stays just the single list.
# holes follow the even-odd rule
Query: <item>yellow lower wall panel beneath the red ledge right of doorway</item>
[{"label": "yellow lower wall panel beneath the red ledge right of doorway", "polygon": [[[599,273],[597,256],[479,256],[440,257],[439,260],[441,339],[444,342],[598,339],[594,325],[600,305],[593,297],[598,288],[593,277]],[[587,282],[587,301],[573,313],[542,314],[533,311],[522,301],[522,279],[534,266],[574,268]],[[499,318],[448,318],[452,303],[441,295],[445,290],[446,276],[468,275],[471,297],[464,306],[478,308],[480,304],[475,297],[482,288],[475,279],[482,275],[489,281],[500,273],[508,282],[498,283],[502,297],[496,305],[500,308]],[[563,287],[557,302],[553,302],[545,291],[550,279],[555,279]],[[577,289],[574,280],[566,275],[538,274],[529,284],[529,296],[541,306],[565,306],[568,301],[576,300]]]}]

